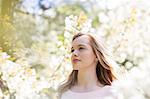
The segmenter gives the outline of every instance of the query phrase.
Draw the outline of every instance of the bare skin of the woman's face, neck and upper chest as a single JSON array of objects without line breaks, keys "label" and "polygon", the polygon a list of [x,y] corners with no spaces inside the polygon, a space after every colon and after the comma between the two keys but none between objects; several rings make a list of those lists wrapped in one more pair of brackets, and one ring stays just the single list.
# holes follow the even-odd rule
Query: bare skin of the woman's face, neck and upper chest
[{"label": "bare skin of the woman's face, neck and upper chest", "polygon": [[[78,59],[79,61],[75,61]],[[78,70],[78,83],[71,90],[87,92],[103,87],[96,76],[97,58],[90,45],[89,37],[84,35],[72,42],[72,65]]]}]

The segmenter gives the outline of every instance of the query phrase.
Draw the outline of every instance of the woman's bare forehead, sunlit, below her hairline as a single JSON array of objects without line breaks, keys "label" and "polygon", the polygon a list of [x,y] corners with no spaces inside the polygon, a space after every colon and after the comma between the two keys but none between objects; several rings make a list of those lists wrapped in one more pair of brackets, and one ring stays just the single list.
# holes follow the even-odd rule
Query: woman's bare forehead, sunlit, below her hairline
[{"label": "woman's bare forehead, sunlit, below her hairline", "polygon": [[80,37],[77,37],[73,42],[72,46],[78,46],[78,45],[89,45],[90,39],[87,35],[82,35]]}]

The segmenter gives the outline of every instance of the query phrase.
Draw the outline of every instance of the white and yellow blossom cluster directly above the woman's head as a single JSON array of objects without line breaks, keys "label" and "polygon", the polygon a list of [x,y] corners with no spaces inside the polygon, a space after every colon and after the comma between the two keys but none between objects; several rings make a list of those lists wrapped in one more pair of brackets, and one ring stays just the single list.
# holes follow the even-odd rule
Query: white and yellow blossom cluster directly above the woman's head
[{"label": "white and yellow blossom cluster directly above the woman's head", "polygon": [[94,31],[92,28],[92,20],[88,19],[86,15],[81,13],[78,16],[70,15],[65,19],[65,30],[69,33],[91,33]]}]

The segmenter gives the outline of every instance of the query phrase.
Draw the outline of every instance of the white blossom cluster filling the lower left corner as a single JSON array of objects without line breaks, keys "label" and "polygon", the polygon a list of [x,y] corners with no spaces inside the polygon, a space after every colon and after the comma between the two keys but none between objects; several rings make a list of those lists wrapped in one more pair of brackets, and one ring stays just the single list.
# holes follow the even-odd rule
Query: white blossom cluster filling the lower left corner
[{"label": "white blossom cluster filling the lower left corner", "polygon": [[38,79],[35,69],[12,62],[9,58],[7,53],[0,52],[0,98],[48,99],[42,90],[49,88],[49,83],[44,79]]}]

